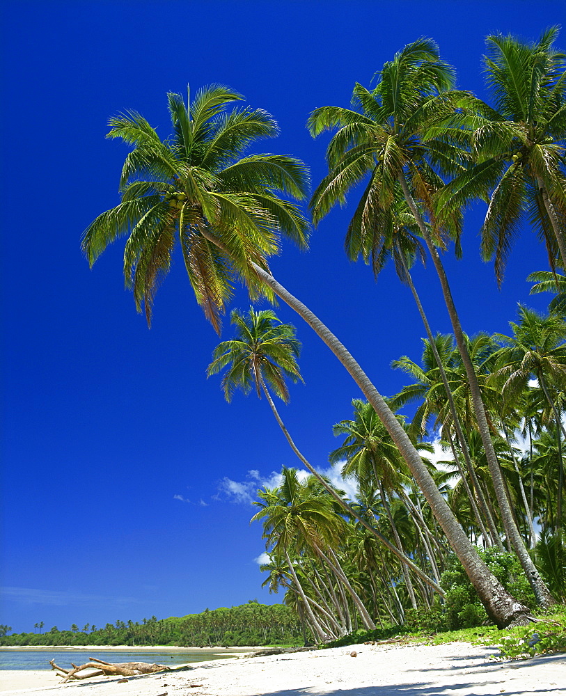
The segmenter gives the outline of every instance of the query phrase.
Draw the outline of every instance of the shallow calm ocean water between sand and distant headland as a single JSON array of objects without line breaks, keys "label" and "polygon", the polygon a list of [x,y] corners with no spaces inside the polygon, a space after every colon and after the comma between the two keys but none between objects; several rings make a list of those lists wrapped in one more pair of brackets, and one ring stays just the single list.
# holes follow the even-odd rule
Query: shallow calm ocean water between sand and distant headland
[{"label": "shallow calm ocean water between sand and distant headland", "polygon": [[127,650],[104,650],[90,648],[88,650],[74,650],[61,648],[38,648],[27,650],[2,649],[0,648],[0,670],[51,670],[49,660],[54,660],[55,664],[68,670],[71,663],[84,665],[89,657],[95,657],[104,662],[148,662],[166,667],[177,667],[190,662],[203,662],[205,660],[221,660],[230,657],[219,651],[213,652],[191,652],[190,648],[186,651],[155,651],[144,650],[136,652],[135,648]]}]

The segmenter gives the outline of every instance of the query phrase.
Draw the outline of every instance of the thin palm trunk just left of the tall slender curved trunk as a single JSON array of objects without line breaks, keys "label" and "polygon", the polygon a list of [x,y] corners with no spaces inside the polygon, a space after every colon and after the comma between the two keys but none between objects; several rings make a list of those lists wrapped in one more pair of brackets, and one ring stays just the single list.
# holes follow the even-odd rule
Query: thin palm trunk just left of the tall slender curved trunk
[{"label": "thin palm trunk just left of the tall slender curved trunk", "polygon": [[[452,416],[452,420],[454,423],[454,429],[456,431],[456,438],[460,446],[460,452],[462,452],[462,455],[464,457],[464,461],[466,463],[466,467],[468,468],[469,472],[473,471],[473,464],[471,461],[470,457],[470,451],[468,449],[468,443],[466,442],[466,438],[464,437],[464,431],[462,430],[462,423],[460,422],[457,410],[456,410],[456,404],[454,403],[454,397],[452,394],[452,390],[450,389],[450,385],[448,383],[448,377],[446,377],[446,370],[444,370],[444,365],[442,364],[442,361],[439,356],[439,351],[437,349],[437,344],[434,342],[434,337],[432,335],[432,330],[430,329],[430,324],[428,323],[427,316],[425,314],[425,310],[423,309],[423,305],[420,302],[420,297],[418,296],[418,293],[416,292],[416,287],[414,286],[413,283],[413,278],[411,277],[411,272],[407,268],[407,264],[405,263],[404,256],[401,254],[400,255],[403,271],[405,274],[405,277],[407,279],[407,285],[409,285],[409,288],[411,289],[411,292],[413,294],[416,306],[418,308],[418,313],[420,314],[420,319],[423,322],[423,325],[425,326],[425,331],[427,333],[427,338],[428,342],[430,344],[430,349],[432,350],[432,354],[434,355],[434,360],[437,362],[437,366],[439,368],[440,376],[442,379],[442,383],[444,385],[444,390],[446,391],[446,398],[448,399],[448,407],[450,409],[450,415]],[[452,444],[452,441],[450,439],[450,444]],[[489,543],[490,535],[487,534],[487,530],[485,529],[485,526],[483,524],[483,521],[480,516],[480,511],[478,510],[478,506],[475,504],[475,500],[473,498],[473,495],[471,493],[471,490],[469,489],[468,482],[466,481],[466,477],[463,475],[462,470],[460,468],[460,464],[458,461],[458,457],[456,454],[454,454],[454,459],[456,466],[458,467],[458,470],[460,472],[460,475],[462,476],[462,482],[464,484],[464,487],[466,488],[466,493],[468,495],[468,498],[470,500],[470,505],[472,506],[473,509],[473,514],[475,516],[475,519],[478,521],[478,525],[480,525],[480,529],[482,530],[482,535],[484,536],[484,539],[486,539]],[[473,482],[473,480],[472,480]],[[480,502],[481,504],[481,502]],[[485,505],[484,505],[485,507]],[[487,507],[485,507],[484,512],[487,511],[486,518],[488,520],[489,524],[489,510],[487,510]],[[501,544],[501,539],[499,538],[499,535],[497,533],[497,530],[495,528],[495,525],[493,523],[493,520],[491,520],[491,525],[489,525],[489,530],[491,532],[491,537],[492,543],[497,544],[503,548],[503,544]]]}]

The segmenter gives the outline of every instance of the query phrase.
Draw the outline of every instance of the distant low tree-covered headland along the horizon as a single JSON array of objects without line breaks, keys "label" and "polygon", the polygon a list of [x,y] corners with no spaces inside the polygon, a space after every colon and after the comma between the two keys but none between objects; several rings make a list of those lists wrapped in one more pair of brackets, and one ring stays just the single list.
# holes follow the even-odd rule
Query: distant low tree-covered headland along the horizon
[{"label": "distant low tree-covered headland along the horizon", "polygon": [[[39,624],[36,624],[39,626]],[[11,631],[6,626],[7,631]],[[180,647],[223,647],[237,645],[296,645],[303,642],[294,611],[282,604],[269,606],[257,601],[168,619],[117,621],[97,627],[86,624],[60,630],[53,626],[38,633],[0,635],[0,645],[175,645]]]}]

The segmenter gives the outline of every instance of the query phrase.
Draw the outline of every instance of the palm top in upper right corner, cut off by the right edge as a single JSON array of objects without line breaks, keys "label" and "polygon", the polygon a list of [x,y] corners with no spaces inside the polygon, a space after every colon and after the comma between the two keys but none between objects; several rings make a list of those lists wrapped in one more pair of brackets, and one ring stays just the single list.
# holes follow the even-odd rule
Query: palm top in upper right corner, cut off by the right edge
[{"label": "palm top in upper right corner, cut off by the right edge", "polygon": [[524,216],[544,239],[551,266],[557,253],[558,265],[566,263],[566,55],[553,47],[557,35],[552,26],[537,42],[488,36],[485,72],[495,109],[469,100],[451,119],[452,127],[474,132],[478,164],[441,192],[439,213],[470,198],[489,200],[482,253],[495,258],[499,282]]}]

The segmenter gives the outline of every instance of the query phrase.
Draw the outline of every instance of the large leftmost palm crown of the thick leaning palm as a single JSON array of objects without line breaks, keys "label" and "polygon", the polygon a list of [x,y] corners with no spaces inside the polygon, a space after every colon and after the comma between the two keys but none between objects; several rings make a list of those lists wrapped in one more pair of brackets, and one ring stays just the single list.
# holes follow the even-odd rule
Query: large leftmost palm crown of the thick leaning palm
[{"label": "large leftmost palm crown of the thick leaning palm", "polygon": [[92,265],[108,244],[129,235],[125,281],[137,309],[145,307],[148,324],[177,242],[196,299],[217,331],[234,277],[252,299],[270,296],[252,264],[267,269],[280,234],[306,246],[306,219],[278,195],[306,196],[306,166],[283,155],[242,157],[254,141],[278,132],[261,109],[227,110],[242,99],[221,85],[199,90],[187,104],[169,94],[173,134],[165,140],[134,111],[109,120],[107,137],[121,138],[133,150],[120,177],[121,203],[88,226],[82,247]]}]

